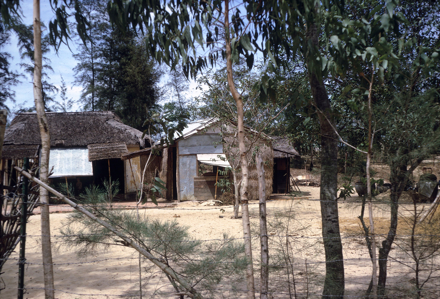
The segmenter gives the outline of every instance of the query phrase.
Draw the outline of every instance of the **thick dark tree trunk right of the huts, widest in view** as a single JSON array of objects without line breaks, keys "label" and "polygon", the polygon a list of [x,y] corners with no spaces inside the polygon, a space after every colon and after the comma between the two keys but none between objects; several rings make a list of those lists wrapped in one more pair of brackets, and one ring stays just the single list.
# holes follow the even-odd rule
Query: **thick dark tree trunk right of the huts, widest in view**
[{"label": "thick dark tree trunk right of the huts, widest in view", "polygon": [[[306,42],[318,48],[317,27],[308,23]],[[314,59],[309,57],[308,59]],[[325,89],[323,77],[310,66],[308,76],[313,100],[319,110],[321,131],[321,219],[323,225],[323,242],[326,255],[326,278],[323,298],[337,299],[344,297],[344,260],[342,256],[341,233],[337,211],[337,134],[331,113],[330,100]]]}]

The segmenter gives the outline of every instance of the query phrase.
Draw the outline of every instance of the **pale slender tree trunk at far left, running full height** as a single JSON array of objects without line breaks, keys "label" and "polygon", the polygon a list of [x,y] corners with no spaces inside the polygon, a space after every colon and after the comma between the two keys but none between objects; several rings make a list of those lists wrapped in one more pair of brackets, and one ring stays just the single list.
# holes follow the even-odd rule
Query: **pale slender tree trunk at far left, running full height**
[{"label": "pale slender tree trunk at far left, running full height", "polygon": [[[33,0],[33,46],[34,46],[34,73],[33,73],[33,95],[35,110],[37,111],[38,124],[41,135],[41,156],[40,156],[40,179],[42,182],[49,181],[49,152],[51,149],[51,138],[49,125],[44,111],[44,101],[41,85],[41,24],[40,24],[40,0]],[[40,188],[41,203],[41,251],[43,254],[44,272],[44,294],[46,299],[53,299],[54,276],[52,266],[51,230],[49,221],[49,193],[48,190]]]}]

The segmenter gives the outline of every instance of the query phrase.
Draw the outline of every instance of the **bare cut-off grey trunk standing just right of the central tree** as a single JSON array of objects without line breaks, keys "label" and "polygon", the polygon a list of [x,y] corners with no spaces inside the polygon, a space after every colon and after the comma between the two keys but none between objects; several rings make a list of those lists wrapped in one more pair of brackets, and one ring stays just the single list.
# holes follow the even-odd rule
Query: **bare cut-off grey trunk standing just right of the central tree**
[{"label": "bare cut-off grey trunk standing just right of the central tree", "polygon": [[269,283],[269,244],[268,227],[266,222],[266,188],[264,186],[264,166],[263,159],[257,153],[258,171],[258,194],[260,199],[260,244],[261,244],[261,270],[260,270],[260,299],[268,298]]}]

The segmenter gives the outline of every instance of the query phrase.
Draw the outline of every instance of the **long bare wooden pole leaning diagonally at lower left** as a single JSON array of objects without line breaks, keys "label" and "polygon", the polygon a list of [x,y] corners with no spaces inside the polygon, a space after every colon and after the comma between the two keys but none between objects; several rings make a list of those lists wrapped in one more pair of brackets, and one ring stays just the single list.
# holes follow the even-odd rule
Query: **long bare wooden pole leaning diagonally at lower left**
[{"label": "long bare wooden pole leaning diagonally at lower left", "polygon": [[109,223],[105,222],[103,219],[96,217],[93,213],[87,211],[83,207],[74,203],[69,198],[67,198],[63,194],[59,193],[57,190],[53,189],[48,184],[33,177],[28,172],[24,171],[22,168],[19,168],[16,166],[15,169],[17,171],[19,171],[22,175],[26,176],[26,178],[33,180],[38,185],[40,185],[44,189],[48,190],[50,193],[54,194],[56,197],[58,197],[60,200],[64,201],[66,204],[69,204],[71,207],[75,208],[77,211],[83,213],[88,218],[92,219],[93,221],[98,222],[100,225],[104,226],[106,229],[110,230],[112,233],[114,233],[115,235],[120,237],[122,240],[125,241],[126,246],[129,246],[129,247],[136,249],[140,254],[142,254],[147,259],[149,259],[151,263],[154,263],[154,265],[158,266],[162,271],[164,271],[166,274],[168,274],[170,277],[172,277],[175,281],[177,281],[182,286],[182,288],[185,289],[184,295],[187,295],[187,296],[194,298],[194,299],[203,299],[203,296],[192,287],[190,282],[185,280],[185,277],[182,277],[178,273],[174,272],[174,270],[172,270],[169,266],[162,263],[161,259],[156,258],[154,255],[152,255],[150,252],[148,252],[147,249],[141,247],[135,241],[133,241],[129,237],[125,236],[124,233],[120,232],[119,230],[117,230],[116,228],[111,226]]}]

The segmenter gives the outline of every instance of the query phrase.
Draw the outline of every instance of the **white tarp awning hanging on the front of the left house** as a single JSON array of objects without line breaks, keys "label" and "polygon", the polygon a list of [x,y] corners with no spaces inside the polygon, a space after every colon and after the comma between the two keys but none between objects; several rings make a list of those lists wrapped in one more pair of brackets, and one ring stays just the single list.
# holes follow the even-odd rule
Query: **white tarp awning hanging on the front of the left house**
[{"label": "white tarp awning hanging on the front of the left house", "polygon": [[52,148],[49,157],[51,177],[93,175],[92,162],[85,148]]}]

